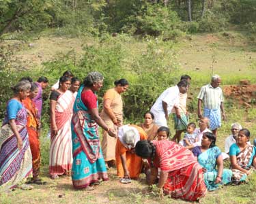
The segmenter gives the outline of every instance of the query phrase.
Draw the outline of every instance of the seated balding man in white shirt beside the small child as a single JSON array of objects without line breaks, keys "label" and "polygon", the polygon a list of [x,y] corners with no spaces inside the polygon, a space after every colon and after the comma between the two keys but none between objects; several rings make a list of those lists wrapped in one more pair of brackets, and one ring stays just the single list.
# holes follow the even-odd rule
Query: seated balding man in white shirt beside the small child
[{"label": "seated balding man in white shirt beside the small child", "polygon": [[194,133],[197,135],[197,142],[192,143],[190,146],[186,146],[187,149],[193,149],[196,146],[201,146],[201,140],[203,137],[203,133],[211,132],[210,129],[208,129],[209,126],[209,119],[208,118],[200,118],[199,120],[199,128],[195,129]]}]

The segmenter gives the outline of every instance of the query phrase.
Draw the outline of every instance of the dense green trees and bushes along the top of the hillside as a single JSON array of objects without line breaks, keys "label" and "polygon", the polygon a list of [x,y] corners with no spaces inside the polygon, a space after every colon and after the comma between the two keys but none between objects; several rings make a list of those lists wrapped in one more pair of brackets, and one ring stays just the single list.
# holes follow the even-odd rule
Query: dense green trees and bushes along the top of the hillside
[{"label": "dense green trees and bushes along the top of the hillside", "polygon": [[[255,24],[254,0],[1,0],[0,36],[10,31],[59,34],[130,33],[175,38],[219,31],[229,23]],[[190,22],[190,23],[188,23]]]}]

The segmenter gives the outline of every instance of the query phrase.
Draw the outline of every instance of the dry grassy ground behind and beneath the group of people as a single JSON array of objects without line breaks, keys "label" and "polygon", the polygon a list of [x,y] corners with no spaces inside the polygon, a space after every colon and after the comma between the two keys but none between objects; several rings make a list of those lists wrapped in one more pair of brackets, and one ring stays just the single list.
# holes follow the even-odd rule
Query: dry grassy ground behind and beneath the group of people
[{"label": "dry grassy ground behind and beneath the group of people", "polygon": [[[223,84],[238,84],[241,79],[256,82],[256,47],[243,37],[238,31],[223,33],[186,36],[176,44],[171,41],[159,42],[159,50],[171,50],[171,56],[162,59],[162,63],[168,63],[169,58],[175,58],[177,77],[181,73],[192,76],[192,84],[189,96],[192,98],[188,105],[193,109],[190,113],[190,121],[196,121],[195,97],[199,88],[209,82],[212,73],[218,73],[223,78]],[[118,36],[122,46],[129,54],[124,60],[123,69],[129,69],[132,65],[132,57],[143,54],[147,48],[146,41],[158,39],[135,39],[127,36]],[[83,37],[81,39],[68,39],[65,37],[40,37],[29,42],[12,41],[14,49],[14,67],[33,69],[42,67],[42,63],[49,61],[60,54],[72,53],[76,60],[83,55],[83,46],[98,44],[99,39]],[[3,44],[7,46],[7,44]],[[156,53],[156,54],[157,54]],[[168,52],[167,52],[168,53]],[[159,93],[160,94],[160,93]],[[124,107],[125,108],[125,107]],[[218,132],[217,146],[224,150],[225,137],[230,134],[230,125],[240,122],[242,126],[251,131],[251,141],[256,138],[256,109],[244,109],[236,104],[236,101],[227,100],[225,103],[227,121]],[[138,119],[139,120],[139,119]],[[126,121],[131,122],[132,121]],[[171,133],[173,133],[173,121],[169,121]],[[145,188],[145,176],[141,175],[139,181],[131,184],[120,184],[115,175],[115,169],[109,171],[109,182],[103,182],[91,192],[74,190],[70,177],[61,177],[59,180],[48,178],[48,148],[49,141],[46,138],[48,125],[44,124],[44,133],[41,137],[42,146],[42,179],[46,186],[34,186],[33,190],[16,189],[12,192],[2,192],[0,203],[187,203],[185,201],[158,198],[154,194],[142,194]],[[201,203],[256,203],[256,174],[250,177],[248,184],[241,186],[224,186],[214,192],[209,192]]]}]

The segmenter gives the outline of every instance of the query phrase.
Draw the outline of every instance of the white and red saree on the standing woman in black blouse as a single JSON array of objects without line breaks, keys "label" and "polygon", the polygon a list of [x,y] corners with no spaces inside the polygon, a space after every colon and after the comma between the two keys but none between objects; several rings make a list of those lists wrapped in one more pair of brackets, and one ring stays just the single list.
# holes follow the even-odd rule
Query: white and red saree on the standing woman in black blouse
[{"label": "white and red saree on the standing woman in black blouse", "polygon": [[50,175],[69,174],[72,168],[71,118],[74,96],[67,90],[59,96],[55,109],[57,135],[51,134]]}]

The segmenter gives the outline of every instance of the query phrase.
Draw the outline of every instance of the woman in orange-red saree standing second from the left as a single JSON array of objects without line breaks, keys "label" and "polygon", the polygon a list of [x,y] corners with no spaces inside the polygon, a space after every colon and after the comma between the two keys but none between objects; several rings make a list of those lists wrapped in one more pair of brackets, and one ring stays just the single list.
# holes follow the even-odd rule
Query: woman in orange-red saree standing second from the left
[{"label": "woman in orange-red saree standing second from the left", "polygon": [[29,134],[29,145],[32,153],[33,180],[31,183],[42,184],[38,178],[40,169],[40,141],[38,138],[39,122],[36,118],[37,109],[32,101],[38,95],[38,86],[35,83],[31,84],[29,97],[23,100],[23,104],[27,109],[27,133]]}]

